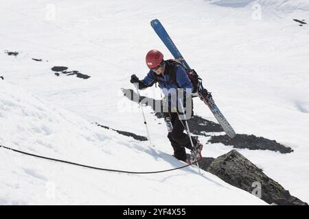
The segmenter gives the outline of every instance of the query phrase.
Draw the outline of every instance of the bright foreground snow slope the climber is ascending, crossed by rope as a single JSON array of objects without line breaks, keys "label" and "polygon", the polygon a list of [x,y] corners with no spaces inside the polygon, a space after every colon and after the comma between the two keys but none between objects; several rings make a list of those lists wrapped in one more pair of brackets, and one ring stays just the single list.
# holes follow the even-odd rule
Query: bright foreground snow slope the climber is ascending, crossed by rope
[{"label": "bright foreground snow slope the climber is ascending, crossed by rope", "polygon": [[[146,143],[99,128],[0,82],[0,142],[5,146],[121,170],[150,171],[183,165]],[[0,205],[264,204],[207,172],[198,175],[196,168],[129,175],[49,162],[5,149],[0,149],[0,157]]]}]

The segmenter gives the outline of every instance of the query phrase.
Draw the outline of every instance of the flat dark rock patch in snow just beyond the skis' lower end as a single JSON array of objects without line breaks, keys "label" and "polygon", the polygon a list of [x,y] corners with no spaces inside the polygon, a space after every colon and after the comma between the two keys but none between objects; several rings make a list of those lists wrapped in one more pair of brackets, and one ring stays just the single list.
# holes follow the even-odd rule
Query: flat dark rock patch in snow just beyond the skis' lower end
[{"label": "flat dark rock patch in snow just beyond the skis' lower end", "polygon": [[211,136],[209,142],[222,143],[231,145],[236,149],[250,149],[250,150],[270,150],[279,151],[280,153],[291,153],[293,149],[277,143],[275,140],[268,140],[266,138],[257,136],[248,136],[245,134],[237,134],[234,138],[229,136]]}]

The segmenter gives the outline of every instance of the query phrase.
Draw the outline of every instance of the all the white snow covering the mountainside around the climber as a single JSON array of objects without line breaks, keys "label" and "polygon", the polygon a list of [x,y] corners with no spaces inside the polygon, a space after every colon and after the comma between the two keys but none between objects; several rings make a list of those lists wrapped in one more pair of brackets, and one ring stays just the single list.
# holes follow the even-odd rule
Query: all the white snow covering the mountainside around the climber
[{"label": "all the white snow covering the mountainside around the climber", "polygon": [[[128,82],[132,73],[146,75],[148,50],[172,57],[150,27],[159,18],[237,133],[277,140],[295,150],[282,155],[238,149],[308,202],[309,29],[293,19],[308,22],[309,3],[261,0],[257,20],[255,1],[241,7],[220,2],[159,0],[149,7],[150,1],[141,0],[1,1],[0,75],[5,80],[0,80],[0,144],[102,168],[181,166],[170,156],[163,120],[150,114],[150,107],[144,110],[154,149],[91,124],[146,136],[141,109],[123,97],[121,88],[133,88]],[[53,66],[91,77],[56,77]],[[155,87],[141,94],[160,98]],[[201,101],[194,101],[194,112],[215,121]],[[207,144],[203,155],[218,157],[230,150]],[[196,168],[124,175],[4,149],[0,157],[0,204],[264,203],[207,172],[201,177]]]}]

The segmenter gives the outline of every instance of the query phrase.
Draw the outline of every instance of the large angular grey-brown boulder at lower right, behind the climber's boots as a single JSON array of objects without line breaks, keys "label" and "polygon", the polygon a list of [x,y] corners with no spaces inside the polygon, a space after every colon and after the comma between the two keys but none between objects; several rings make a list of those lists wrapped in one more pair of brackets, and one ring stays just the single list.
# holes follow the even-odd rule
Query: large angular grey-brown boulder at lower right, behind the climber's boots
[{"label": "large angular grey-brown boulder at lower right, behind the climber's boots", "polygon": [[211,162],[211,159],[206,159],[205,166],[208,165],[208,167],[203,169],[251,194],[254,194],[256,190],[254,183],[260,183],[260,198],[268,204],[308,205],[299,198],[291,196],[282,185],[267,177],[260,168],[236,150],[214,159],[211,164],[207,162]]}]

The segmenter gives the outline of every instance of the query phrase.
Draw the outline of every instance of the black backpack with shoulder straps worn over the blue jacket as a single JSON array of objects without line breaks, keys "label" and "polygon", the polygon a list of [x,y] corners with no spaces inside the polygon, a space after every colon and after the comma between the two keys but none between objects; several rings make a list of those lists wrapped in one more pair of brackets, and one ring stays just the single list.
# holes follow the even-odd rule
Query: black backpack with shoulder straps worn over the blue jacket
[{"label": "black backpack with shoulder straps worn over the blue jacket", "polygon": [[[185,68],[185,71],[187,72],[187,76],[189,77],[192,85],[193,85],[193,93],[198,91],[198,80],[201,79],[200,77],[198,77],[196,71],[194,69],[187,69],[187,66],[185,66],[185,64],[183,64],[181,62],[181,59],[170,59],[170,60],[166,60],[165,62],[167,62],[167,65],[165,66],[165,70],[168,70],[168,72],[170,73],[170,82],[169,83],[177,83],[176,82],[176,72],[174,71],[174,66],[176,64],[179,64],[181,66],[183,66],[183,68]],[[159,81],[158,79],[159,76],[155,75],[155,83],[157,86],[157,82]]]}]

